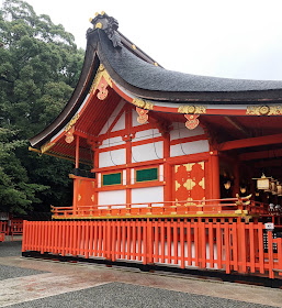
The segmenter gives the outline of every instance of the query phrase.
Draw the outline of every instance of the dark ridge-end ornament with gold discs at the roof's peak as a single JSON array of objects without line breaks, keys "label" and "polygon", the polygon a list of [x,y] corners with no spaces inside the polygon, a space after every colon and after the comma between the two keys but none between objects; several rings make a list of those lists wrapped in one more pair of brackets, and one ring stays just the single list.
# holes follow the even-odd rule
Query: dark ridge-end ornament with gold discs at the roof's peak
[{"label": "dark ridge-end ornament with gold discs at the roof's peak", "polygon": [[[95,13],[93,19],[89,20],[93,24],[93,30],[101,29],[105,32],[108,37],[112,41],[114,47],[122,47],[122,40],[117,33],[119,22],[112,16],[109,16],[104,11],[101,14]],[[88,34],[93,30],[89,29]]]}]

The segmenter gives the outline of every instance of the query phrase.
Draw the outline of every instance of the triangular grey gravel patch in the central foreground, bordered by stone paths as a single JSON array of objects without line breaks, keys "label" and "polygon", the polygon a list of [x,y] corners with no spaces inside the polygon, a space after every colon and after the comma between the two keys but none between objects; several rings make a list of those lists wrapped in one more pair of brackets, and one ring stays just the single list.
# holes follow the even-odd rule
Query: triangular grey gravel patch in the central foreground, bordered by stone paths
[{"label": "triangular grey gravel patch in the central foreground, bordered by stone paths", "polygon": [[[249,304],[211,296],[143,287],[123,283],[110,283],[83,290],[65,293],[42,299],[9,306],[10,308],[267,308],[270,306]],[[273,308],[273,307],[272,307]]]}]

